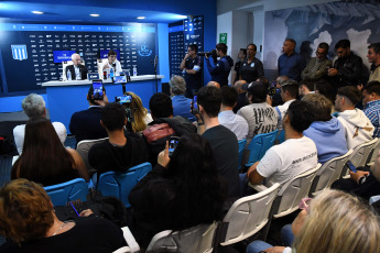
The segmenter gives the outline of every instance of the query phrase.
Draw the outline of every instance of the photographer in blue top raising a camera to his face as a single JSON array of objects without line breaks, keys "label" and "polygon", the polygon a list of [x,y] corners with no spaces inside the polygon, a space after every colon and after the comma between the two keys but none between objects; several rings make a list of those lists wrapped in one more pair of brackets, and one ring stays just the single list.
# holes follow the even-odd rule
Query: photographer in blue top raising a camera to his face
[{"label": "photographer in blue top raising a camera to his face", "polygon": [[[199,54],[200,55],[200,54]],[[207,69],[211,75],[211,80],[217,81],[220,86],[228,86],[228,75],[234,66],[234,59],[227,55],[227,45],[219,43],[216,45],[216,56],[220,57],[218,62],[214,58],[214,65],[209,62],[210,54],[205,52]]]}]

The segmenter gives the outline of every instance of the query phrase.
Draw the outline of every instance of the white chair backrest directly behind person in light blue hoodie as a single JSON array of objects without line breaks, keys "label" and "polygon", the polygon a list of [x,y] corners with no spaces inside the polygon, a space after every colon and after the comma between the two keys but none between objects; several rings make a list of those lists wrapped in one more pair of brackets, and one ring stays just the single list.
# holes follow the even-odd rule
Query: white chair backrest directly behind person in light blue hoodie
[{"label": "white chair backrest directly behind person in light blue hoodie", "polygon": [[316,177],[313,180],[310,196],[316,196],[321,190],[329,188],[335,180],[339,179],[341,170],[351,154],[352,150],[349,150],[346,154],[327,161],[318,169]]}]

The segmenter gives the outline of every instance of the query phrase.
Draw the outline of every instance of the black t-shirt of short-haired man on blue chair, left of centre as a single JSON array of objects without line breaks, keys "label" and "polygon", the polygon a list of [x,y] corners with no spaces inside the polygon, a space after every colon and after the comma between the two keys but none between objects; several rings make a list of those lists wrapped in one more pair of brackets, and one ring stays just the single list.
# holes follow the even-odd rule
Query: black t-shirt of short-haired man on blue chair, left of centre
[{"label": "black t-shirt of short-haired man on blue chair, left of centre", "polygon": [[124,172],[128,168],[149,162],[145,141],[135,133],[126,133],[127,144],[117,146],[108,140],[95,144],[88,152],[89,164],[98,174],[106,172]]}]

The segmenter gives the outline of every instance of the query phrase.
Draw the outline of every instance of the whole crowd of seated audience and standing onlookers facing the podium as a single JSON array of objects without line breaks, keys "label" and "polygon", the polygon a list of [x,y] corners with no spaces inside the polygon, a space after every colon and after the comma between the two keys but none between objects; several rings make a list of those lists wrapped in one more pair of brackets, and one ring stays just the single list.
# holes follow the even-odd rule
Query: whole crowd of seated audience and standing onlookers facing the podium
[{"label": "whole crowd of seated audience and standing onlookers facing the podium", "polygon": [[[294,52],[295,44],[292,38],[285,40],[279,77],[272,82],[264,78],[263,65],[254,57],[257,46],[249,44],[247,51],[240,51],[240,62],[234,68],[236,81],[228,86],[234,63],[226,55],[227,46],[219,43],[219,58],[205,55],[213,78],[205,87],[200,82],[203,59],[197,46],[189,45],[180,66],[184,77],[171,78],[172,97],[153,95],[148,110],[137,94],[127,94],[132,97],[128,105],[132,121],[126,116],[126,105],[109,102],[105,89],[104,98],[94,100],[94,90],[89,89],[89,108],[72,116],[69,130],[77,142],[108,138],[88,153],[97,176],[126,172],[144,162],[153,167],[129,195],[130,228],[142,249],[160,231],[221,220],[231,204],[249,193],[248,182],[268,187],[283,185],[318,163],[380,136],[380,43],[368,50],[372,64],[368,82],[362,61],[350,51],[348,40],[335,45],[338,58],[334,64],[327,57],[328,44],[321,43],[316,57],[307,64]],[[12,168],[13,180],[0,190],[0,233],[13,242],[7,249],[44,252],[36,249],[52,245],[63,252],[63,234],[73,240],[85,238],[87,230],[115,234],[112,239],[104,237],[95,246],[104,246],[107,240],[108,251],[124,245],[120,231],[99,218],[93,218],[94,223],[90,218],[64,223],[54,215],[48,197],[34,183],[48,186],[76,177],[89,182],[93,175],[78,153],[63,145],[66,129],[46,119],[41,96],[29,95],[22,108],[30,119],[26,125],[14,129],[15,143],[21,143],[20,157]],[[130,128],[126,128],[128,124]],[[275,130],[284,132],[285,141],[239,174],[238,142],[247,140],[248,146],[256,135]],[[173,136],[180,141],[170,155]],[[246,152],[242,163],[248,155]],[[292,235],[285,242],[289,248],[256,241],[247,252],[379,252],[378,217],[358,198],[368,200],[380,195],[380,154],[376,155],[379,157],[370,169],[351,172],[350,178],[333,184],[334,190],[319,194],[307,205],[304,201],[292,229],[289,226],[285,230]],[[378,208],[380,202],[372,206]],[[30,229],[40,224],[39,231]]]}]

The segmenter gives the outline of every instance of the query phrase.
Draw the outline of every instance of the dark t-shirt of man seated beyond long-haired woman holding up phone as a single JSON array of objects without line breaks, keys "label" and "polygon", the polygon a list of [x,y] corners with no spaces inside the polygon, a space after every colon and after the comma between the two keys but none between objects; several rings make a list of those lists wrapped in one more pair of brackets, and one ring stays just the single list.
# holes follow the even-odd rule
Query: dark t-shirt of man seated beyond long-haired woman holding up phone
[{"label": "dark t-shirt of man seated beyond long-haired woman holding up phone", "polygon": [[240,197],[239,144],[235,133],[219,124],[207,129],[203,136],[211,145],[219,175],[228,183],[228,196]]}]

